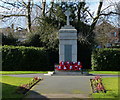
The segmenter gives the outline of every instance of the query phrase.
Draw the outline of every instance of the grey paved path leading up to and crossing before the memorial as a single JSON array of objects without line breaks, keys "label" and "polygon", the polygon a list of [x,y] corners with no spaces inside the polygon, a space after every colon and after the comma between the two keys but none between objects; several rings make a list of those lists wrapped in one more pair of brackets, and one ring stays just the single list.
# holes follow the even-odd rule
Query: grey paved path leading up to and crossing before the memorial
[{"label": "grey paved path leading up to and crossing before the memorial", "polygon": [[[93,74],[88,76],[54,75],[43,74],[21,74],[9,75],[14,77],[41,77],[42,81],[37,83],[25,96],[23,100],[82,100],[91,98],[92,89],[90,79],[96,75],[101,77],[119,77],[118,75]],[[8,75],[7,75],[8,76]],[[65,99],[65,100],[66,100]]]}]

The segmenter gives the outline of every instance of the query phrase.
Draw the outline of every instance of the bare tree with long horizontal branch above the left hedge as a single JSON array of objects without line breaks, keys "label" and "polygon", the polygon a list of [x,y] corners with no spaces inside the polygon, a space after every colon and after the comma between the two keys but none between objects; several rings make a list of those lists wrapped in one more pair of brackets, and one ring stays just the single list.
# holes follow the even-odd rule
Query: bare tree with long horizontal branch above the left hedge
[{"label": "bare tree with long horizontal branch above the left hedge", "polygon": [[[8,1],[8,0],[0,0],[1,5],[0,7],[3,12],[0,13],[0,19],[3,21],[8,21],[10,18],[15,17],[25,17],[27,19],[27,30],[28,32],[31,31],[31,24],[32,24],[32,11],[34,7],[39,8],[39,13],[42,11],[42,14],[45,14],[45,2],[42,2],[41,5],[38,5],[33,2],[33,0],[28,0],[25,2],[24,0],[16,0],[16,1]],[[4,5],[4,6],[3,6]],[[37,16],[36,16],[37,17]],[[33,19],[33,21],[35,18]]]}]

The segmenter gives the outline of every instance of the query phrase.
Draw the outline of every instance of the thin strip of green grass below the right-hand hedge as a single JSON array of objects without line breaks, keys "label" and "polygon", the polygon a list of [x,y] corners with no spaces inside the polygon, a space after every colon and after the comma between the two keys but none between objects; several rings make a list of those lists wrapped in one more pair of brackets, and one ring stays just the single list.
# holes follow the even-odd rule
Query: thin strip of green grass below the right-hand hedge
[{"label": "thin strip of green grass below the right-hand hedge", "polygon": [[89,74],[113,74],[113,75],[120,75],[120,71],[89,71]]}]

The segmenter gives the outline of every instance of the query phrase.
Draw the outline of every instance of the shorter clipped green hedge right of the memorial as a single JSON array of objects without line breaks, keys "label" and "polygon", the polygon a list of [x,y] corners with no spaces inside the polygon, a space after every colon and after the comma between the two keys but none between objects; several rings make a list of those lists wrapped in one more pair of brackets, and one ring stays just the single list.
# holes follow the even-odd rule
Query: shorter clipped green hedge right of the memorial
[{"label": "shorter clipped green hedge right of the memorial", "polygon": [[96,49],[92,53],[92,69],[102,71],[120,70],[120,49]]}]

